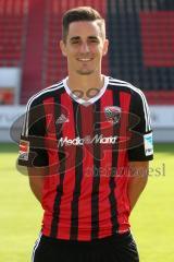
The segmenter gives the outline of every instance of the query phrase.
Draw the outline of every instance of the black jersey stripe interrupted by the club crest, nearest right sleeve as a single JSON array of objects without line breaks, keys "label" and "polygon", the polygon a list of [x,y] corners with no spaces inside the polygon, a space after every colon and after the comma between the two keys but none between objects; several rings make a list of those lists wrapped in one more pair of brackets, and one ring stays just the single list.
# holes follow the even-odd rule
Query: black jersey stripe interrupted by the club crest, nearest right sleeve
[{"label": "black jersey stripe interrupted by the club crest, nearest right sleeve", "polygon": [[[112,92],[113,96],[113,106],[119,106],[120,107],[120,97],[119,93],[115,91]],[[117,124],[113,126],[113,136],[117,135]],[[120,132],[119,132],[120,133]],[[117,222],[117,204],[116,204],[116,199],[114,195],[114,189],[116,187],[115,184],[115,170],[117,168],[117,156],[119,156],[119,141],[115,144],[112,144],[112,166],[111,166],[111,176],[110,176],[110,195],[109,195],[109,201],[111,205],[111,223],[112,223],[112,234],[114,234],[117,228],[119,228],[119,222]]]}]

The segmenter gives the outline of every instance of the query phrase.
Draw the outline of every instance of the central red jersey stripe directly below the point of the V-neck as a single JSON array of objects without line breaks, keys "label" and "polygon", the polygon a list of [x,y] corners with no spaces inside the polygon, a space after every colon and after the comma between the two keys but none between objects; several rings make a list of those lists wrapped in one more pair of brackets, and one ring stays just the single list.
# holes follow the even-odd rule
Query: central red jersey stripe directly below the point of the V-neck
[{"label": "central red jersey stripe directly below the point of the V-neck", "polygon": [[[92,138],[92,106],[80,106],[82,110],[82,135],[83,138],[90,135]],[[90,240],[91,230],[91,191],[92,191],[92,174],[94,174],[94,148],[91,144],[83,147],[83,179],[80,186],[80,196],[78,202],[78,239]],[[83,229],[86,228],[84,231]]]}]

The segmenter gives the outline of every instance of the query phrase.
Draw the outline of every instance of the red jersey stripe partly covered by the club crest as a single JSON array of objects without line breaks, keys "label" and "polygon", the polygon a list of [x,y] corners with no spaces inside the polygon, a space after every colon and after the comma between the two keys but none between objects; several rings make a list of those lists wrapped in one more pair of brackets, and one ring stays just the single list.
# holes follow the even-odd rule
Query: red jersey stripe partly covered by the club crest
[{"label": "red jersey stripe partly covered by the club crest", "polygon": [[[104,107],[113,106],[112,91],[105,91],[101,97],[101,134],[103,138],[112,136],[112,122],[107,121],[104,116]],[[110,174],[112,165],[112,144],[101,144],[101,162],[100,162],[100,188],[99,188],[99,238],[111,235],[111,206],[109,201],[110,194]],[[107,228],[107,231],[105,231]]]}]

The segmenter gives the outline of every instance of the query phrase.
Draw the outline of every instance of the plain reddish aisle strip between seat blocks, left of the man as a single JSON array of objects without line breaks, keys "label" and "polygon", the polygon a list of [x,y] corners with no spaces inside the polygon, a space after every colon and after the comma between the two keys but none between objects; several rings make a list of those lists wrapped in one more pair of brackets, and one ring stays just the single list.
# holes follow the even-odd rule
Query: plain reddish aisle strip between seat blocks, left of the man
[{"label": "plain reddish aisle strip between seat blocks, left of the man", "polygon": [[44,88],[44,37],[45,37],[46,4],[42,0],[28,0],[28,23],[25,46],[25,60],[23,64],[23,87],[21,103]]}]

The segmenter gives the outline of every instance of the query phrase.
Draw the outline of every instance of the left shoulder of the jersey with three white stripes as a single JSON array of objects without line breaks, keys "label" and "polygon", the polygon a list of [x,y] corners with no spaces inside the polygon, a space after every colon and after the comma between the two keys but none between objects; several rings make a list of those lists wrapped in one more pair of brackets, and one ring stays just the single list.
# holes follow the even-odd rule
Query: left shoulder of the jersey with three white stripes
[{"label": "left shoulder of the jersey with three white stripes", "polygon": [[49,97],[53,97],[54,94],[59,91],[63,91],[63,80],[33,95],[27,102],[27,105],[26,105],[27,110],[30,107],[35,107],[37,105],[42,104],[45,99]]}]

